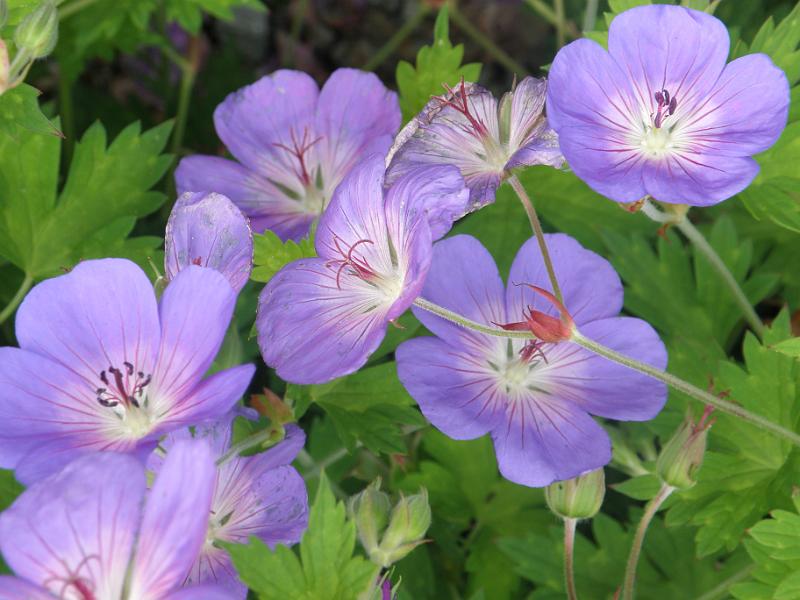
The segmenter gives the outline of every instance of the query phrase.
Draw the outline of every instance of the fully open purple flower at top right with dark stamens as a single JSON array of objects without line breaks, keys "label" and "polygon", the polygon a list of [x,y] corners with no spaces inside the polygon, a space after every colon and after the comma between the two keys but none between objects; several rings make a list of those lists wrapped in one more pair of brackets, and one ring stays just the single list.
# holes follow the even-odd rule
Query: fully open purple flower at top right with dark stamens
[{"label": "fully open purple flower at top right with dark stamens", "polygon": [[705,206],[746,188],[750,157],[786,125],[789,84],[764,54],[726,66],[729,43],[718,19],[657,5],[616,17],[608,52],[586,39],[562,48],[547,116],[572,170],[617,202]]}]

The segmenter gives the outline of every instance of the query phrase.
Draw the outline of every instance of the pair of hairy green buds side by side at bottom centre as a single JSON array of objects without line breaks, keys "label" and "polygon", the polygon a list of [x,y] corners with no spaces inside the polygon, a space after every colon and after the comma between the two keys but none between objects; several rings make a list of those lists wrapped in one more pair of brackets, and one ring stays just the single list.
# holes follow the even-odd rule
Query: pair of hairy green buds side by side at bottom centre
[{"label": "pair of hairy green buds side by side at bottom centre", "polygon": [[387,568],[425,543],[431,508],[425,488],[412,496],[402,496],[392,508],[388,494],[380,491],[380,486],[378,478],[353,496],[348,512],[356,522],[358,538],[369,559]]}]

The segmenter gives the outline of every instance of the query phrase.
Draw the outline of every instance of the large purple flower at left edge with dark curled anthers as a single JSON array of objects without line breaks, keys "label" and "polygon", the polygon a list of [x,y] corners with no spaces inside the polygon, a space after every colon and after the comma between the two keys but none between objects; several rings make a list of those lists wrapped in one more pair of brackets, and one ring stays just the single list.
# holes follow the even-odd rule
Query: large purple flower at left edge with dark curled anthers
[{"label": "large purple flower at left edge with dark curled anthers", "polygon": [[29,483],[77,454],[147,452],[164,433],[230,411],[252,365],[203,379],[236,293],[189,266],[157,302],[144,272],[91,260],[33,288],[19,348],[0,348],[0,467]]}]

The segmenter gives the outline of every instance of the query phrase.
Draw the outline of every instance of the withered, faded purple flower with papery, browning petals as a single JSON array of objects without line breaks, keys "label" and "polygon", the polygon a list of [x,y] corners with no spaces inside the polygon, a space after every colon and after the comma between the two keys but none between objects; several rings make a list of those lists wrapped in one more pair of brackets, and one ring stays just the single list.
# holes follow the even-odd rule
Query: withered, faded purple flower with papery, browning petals
[{"label": "withered, faded purple flower with papery, browning petals", "polygon": [[387,158],[387,182],[420,165],[455,165],[470,188],[469,210],[477,210],[494,202],[511,169],[560,167],[558,138],[543,114],[546,89],[544,79],[526,77],[499,103],[474,83],[448,89],[397,135]]}]

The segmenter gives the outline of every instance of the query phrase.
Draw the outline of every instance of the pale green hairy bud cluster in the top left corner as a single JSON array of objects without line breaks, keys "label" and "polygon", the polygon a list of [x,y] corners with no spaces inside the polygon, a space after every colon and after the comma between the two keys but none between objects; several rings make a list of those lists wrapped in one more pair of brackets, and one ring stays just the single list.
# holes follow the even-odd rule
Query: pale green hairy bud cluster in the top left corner
[{"label": "pale green hairy bud cluster in the top left corner", "polygon": [[[0,0],[0,29],[7,19],[7,0]],[[34,61],[49,55],[57,41],[58,11],[53,0],[44,0],[17,25],[13,61],[9,62],[8,48],[0,39],[0,94],[21,84]]]}]

